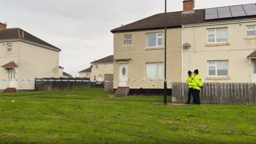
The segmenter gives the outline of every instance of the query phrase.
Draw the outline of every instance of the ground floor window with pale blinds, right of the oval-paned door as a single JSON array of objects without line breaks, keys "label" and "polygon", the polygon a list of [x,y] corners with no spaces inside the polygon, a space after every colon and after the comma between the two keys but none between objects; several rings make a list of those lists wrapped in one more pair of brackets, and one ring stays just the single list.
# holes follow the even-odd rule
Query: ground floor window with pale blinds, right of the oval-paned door
[{"label": "ground floor window with pale blinds, right of the oval-paned door", "polygon": [[146,63],[146,78],[163,78],[163,63]]}]

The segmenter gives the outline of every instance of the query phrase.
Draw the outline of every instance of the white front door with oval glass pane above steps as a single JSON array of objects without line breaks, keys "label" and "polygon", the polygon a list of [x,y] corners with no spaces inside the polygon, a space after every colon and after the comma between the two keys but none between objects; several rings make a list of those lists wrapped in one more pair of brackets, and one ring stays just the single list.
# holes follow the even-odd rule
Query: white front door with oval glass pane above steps
[{"label": "white front door with oval glass pane above steps", "polygon": [[126,86],[128,81],[128,64],[119,64],[119,86]]}]

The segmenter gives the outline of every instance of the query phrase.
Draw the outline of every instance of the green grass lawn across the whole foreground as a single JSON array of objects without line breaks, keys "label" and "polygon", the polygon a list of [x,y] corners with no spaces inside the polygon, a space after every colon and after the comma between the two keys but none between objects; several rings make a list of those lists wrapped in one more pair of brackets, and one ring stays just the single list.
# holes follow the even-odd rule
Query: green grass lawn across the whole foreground
[{"label": "green grass lawn across the whole foreground", "polygon": [[153,104],[162,97],[96,98],[108,94],[94,89],[0,95],[0,143],[256,143],[255,106],[163,106]]}]

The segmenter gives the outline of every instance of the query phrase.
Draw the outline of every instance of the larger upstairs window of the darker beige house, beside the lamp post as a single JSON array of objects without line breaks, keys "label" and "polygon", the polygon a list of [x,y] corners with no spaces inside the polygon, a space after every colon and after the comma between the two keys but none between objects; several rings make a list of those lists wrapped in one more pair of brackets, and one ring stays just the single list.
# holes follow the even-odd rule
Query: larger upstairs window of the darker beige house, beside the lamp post
[{"label": "larger upstairs window of the darker beige house, beside the lamp post", "polygon": [[163,47],[163,33],[146,34],[146,47]]}]

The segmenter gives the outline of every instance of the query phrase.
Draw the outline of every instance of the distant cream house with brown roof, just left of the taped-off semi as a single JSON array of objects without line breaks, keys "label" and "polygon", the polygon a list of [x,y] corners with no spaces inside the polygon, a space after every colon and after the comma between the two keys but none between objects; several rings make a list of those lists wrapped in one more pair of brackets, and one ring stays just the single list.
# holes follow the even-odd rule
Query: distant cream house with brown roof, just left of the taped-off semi
[{"label": "distant cream house with brown roof, just left of the taped-off semi", "polygon": [[113,74],[114,55],[91,62],[90,81],[104,81],[105,74]]}]

